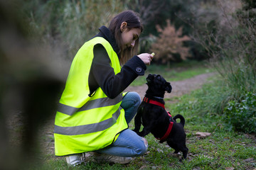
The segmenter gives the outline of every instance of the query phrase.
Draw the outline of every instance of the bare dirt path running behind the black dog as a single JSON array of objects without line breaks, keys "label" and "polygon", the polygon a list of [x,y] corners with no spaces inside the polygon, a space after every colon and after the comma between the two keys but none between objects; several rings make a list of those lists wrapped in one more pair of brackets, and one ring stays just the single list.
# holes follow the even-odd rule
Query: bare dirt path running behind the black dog
[{"label": "bare dirt path running behind the black dog", "polygon": [[[171,82],[172,91],[171,94],[165,94],[165,98],[173,98],[174,96],[182,96],[183,94],[188,94],[195,89],[201,88],[208,80],[208,77],[213,76],[215,73],[200,74],[196,77],[190,79],[184,79],[182,81]],[[145,79],[146,81],[146,79]],[[144,97],[147,86],[129,86],[125,91],[136,91],[141,98]]]}]

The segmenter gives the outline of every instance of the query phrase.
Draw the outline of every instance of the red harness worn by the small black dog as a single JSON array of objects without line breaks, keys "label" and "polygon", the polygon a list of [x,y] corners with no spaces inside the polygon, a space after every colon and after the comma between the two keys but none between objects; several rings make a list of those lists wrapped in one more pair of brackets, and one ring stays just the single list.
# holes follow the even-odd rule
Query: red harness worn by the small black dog
[{"label": "red harness worn by the small black dog", "polygon": [[[154,100],[149,99],[147,97],[144,97],[143,101],[146,102],[146,103],[154,104],[156,106],[161,106],[162,108],[165,109],[164,103],[160,103],[159,101],[154,101]],[[161,138],[156,138],[157,140],[160,140],[160,142],[164,142],[164,140],[166,140],[166,138],[169,136],[169,134],[171,132],[171,129],[172,129],[173,125],[174,125],[174,122],[171,122],[171,113],[169,111],[167,111],[167,113],[169,115],[170,123],[169,123],[169,127],[168,127],[166,133],[164,134],[164,136],[161,137]]]}]

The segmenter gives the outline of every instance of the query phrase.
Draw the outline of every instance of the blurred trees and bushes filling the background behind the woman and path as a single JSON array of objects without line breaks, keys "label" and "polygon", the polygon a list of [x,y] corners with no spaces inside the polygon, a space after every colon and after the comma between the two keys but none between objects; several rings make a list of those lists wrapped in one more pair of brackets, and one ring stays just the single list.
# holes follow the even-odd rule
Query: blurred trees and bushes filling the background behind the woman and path
[{"label": "blurred trees and bushes filling the background behind the woman and path", "polygon": [[204,101],[210,111],[223,114],[228,101],[255,93],[255,6],[250,0],[36,0],[25,1],[22,9],[33,38],[61,47],[70,61],[112,16],[137,11],[145,28],[140,52],[155,52],[155,63],[210,61],[222,83],[215,84],[220,92]]}]

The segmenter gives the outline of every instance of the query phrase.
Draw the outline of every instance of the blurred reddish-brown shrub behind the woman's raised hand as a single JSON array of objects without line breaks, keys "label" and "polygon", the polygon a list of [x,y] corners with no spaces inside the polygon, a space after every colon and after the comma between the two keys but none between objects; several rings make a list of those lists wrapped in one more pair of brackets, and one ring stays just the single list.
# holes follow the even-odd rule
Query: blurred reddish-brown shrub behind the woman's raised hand
[{"label": "blurred reddish-brown shrub behind the woman's raised hand", "polygon": [[[166,20],[167,26],[162,29],[156,25],[157,31],[160,33],[159,38],[151,45],[151,51],[156,53],[156,60],[163,63],[169,63],[171,60],[186,60],[189,55],[189,47],[184,47],[183,42],[191,40],[187,35],[182,35],[182,27],[176,28],[171,25],[170,20]],[[176,58],[179,55],[178,59]]]}]

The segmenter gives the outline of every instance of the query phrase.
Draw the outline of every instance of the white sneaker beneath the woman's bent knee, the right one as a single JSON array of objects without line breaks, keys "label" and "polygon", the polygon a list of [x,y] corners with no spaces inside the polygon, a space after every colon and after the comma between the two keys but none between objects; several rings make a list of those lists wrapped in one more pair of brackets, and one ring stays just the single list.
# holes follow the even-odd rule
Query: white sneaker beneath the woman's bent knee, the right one
[{"label": "white sneaker beneath the woman's bent knee, the right one", "polygon": [[92,161],[97,163],[128,164],[132,161],[132,157],[117,157],[110,154],[98,154],[94,152]]}]

